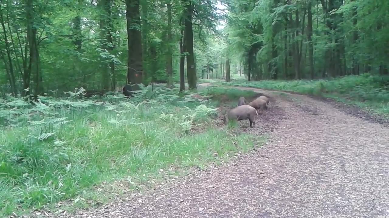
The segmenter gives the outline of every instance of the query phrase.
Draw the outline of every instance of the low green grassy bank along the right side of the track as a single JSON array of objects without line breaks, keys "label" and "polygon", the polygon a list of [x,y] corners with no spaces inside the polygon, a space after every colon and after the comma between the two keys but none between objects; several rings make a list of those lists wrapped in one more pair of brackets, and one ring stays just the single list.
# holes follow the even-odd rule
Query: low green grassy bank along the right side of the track
[{"label": "low green grassy bank along the right side of the track", "polygon": [[263,80],[251,82],[242,80],[231,83],[221,82],[219,84],[324,96],[389,117],[389,77],[387,76],[363,74],[333,80]]}]

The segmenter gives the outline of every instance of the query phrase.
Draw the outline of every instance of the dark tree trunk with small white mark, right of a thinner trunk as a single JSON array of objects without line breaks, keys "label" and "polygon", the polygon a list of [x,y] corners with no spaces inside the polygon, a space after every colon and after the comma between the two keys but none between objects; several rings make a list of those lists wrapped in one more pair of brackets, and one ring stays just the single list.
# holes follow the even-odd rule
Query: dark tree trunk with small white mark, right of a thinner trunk
[{"label": "dark tree trunk with small white mark, right of a thinner trunk", "polygon": [[185,0],[185,43],[186,43],[186,71],[188,78],[189,89],[197,88],[197,75],[196,75],[196,66],[195,66],[195,54],[193,52],[193,26],[192,26],[192,15],[193,15],[193,5],[190,0]]}]

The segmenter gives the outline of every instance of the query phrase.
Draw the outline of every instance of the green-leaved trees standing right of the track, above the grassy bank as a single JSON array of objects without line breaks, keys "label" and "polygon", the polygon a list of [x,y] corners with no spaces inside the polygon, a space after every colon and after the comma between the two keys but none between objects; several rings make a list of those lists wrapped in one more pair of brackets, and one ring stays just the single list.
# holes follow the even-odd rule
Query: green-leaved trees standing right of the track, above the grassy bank
[{"label": "green-leaved trees standing right of the track, above the grassy bank", "polygon": [[246,69],[250,55],[255,55],[250,69],[254,80],[338,77],[363,71],[388,74],[384,60],[388,2],[245,0],[230,1],[228,6],[226,42],[234,61],[244,60]]}]

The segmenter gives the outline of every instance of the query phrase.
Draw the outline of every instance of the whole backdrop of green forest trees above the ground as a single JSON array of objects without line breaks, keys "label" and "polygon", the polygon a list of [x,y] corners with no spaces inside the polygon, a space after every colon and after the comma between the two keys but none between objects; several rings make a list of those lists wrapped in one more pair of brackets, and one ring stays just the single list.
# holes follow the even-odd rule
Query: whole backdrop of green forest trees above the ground
[{"label": "whole backdrop of green forest trees above the ground", "polygon": [[387,11],[384,0],[0,0],[0,91],[388,74]]}]

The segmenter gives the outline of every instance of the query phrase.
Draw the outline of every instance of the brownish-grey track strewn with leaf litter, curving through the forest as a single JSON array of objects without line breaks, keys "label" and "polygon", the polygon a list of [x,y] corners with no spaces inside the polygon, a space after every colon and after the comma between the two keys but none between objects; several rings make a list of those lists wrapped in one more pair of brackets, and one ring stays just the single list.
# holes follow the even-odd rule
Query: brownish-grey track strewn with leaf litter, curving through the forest
[{"label": "brownish-grey track strewn with leaf litter, curving through the forest", "polygon": [[389,217],[389,128],[331,102],[239,89],[271,97],[254,128],[239,122],[269,134],[263,147],[99,208],[34,216]]}]

